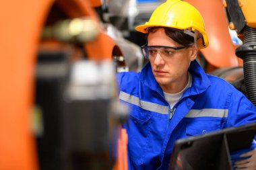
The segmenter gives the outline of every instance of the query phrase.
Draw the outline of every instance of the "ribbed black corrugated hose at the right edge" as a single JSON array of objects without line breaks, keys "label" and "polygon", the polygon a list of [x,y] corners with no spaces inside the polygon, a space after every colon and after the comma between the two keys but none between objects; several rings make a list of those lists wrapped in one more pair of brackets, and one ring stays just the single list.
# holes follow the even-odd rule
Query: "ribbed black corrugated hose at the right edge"
[{"label": "ribbed black corrugated hose at the right edge", "polygon": [[256,105],[256,29],[246,27],[244,44],[236,48],[236,56],[243,59],[247,97]]}]

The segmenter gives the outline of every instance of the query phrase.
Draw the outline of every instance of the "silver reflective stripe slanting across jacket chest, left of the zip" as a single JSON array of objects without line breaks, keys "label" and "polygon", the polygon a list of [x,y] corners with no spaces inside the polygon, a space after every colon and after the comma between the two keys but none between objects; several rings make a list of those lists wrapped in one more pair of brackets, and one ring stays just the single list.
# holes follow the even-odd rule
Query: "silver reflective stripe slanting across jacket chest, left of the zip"
[{"label": "silver reflective stripe slanting across jacket chest, left of the zip", "polygon": [[123,91],[120,92],[119,99],[126,101],[127,103],[137,105],[139,106],[139,108],[142,108],[143,110],[157,112],[159,114],[168,114],[168,106],[159,105],[148,101],[142,101],[139,99],[139,97],[135,97],[134,95],[130,95]]}]

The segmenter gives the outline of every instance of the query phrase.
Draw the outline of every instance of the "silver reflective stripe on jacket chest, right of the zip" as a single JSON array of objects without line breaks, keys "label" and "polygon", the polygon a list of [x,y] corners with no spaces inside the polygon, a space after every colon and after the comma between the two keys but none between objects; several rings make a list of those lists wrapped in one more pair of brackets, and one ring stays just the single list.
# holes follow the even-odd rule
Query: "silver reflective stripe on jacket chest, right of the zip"
[{"label": "silver reflective stripe on jacket chest, right of the zip", "polygon": [[222,109],[202,109],[202,110],[189,110],[185,118],[199,118],[199,117],[215,117],[227,118],[228,110]]}]

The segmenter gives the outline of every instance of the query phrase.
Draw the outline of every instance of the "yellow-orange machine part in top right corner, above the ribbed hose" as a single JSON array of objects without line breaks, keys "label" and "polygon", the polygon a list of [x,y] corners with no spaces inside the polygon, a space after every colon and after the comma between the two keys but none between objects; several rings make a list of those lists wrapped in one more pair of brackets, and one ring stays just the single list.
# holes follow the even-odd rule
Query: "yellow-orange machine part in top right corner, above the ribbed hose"
[{"label": "yellow-orange machine part in top right corner, above the ribbed hose", "polygon": [[247,26],[256,28],[256,1],[255,0],[238,0],[238,3],[245,15]]}]

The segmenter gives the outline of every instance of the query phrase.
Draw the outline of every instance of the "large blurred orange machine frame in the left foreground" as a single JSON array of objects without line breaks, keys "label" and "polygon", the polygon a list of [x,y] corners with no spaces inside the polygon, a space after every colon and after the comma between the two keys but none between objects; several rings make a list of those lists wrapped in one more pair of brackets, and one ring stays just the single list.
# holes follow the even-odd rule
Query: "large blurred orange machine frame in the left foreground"
[{"label": "large blurred orange machine frame in the left foreground", "polygon": [[[91,7],[100,5],[100,1],[55,3],[62,5],[71,18],[89,16],[99,22]],[[39,168],[30,119],[40,32],[52,5],[53,0],[4,1],[0,5],[0,169]],[[111,60],[114,46],[115,42],[102,30],[96,40],[84,44],[92,60]]]}]

